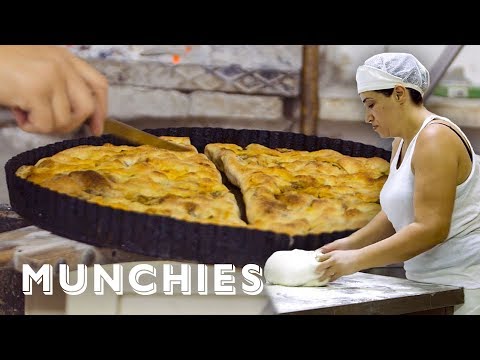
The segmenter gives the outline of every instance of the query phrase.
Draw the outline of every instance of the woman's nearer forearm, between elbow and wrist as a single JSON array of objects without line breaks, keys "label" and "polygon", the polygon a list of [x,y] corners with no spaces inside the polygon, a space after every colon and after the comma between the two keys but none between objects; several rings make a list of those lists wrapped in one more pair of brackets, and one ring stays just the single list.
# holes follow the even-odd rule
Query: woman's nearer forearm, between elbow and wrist
[{"label": "woman's nearer forearm, between elbow and wrist", "polygon": [[360,249],[360,267],[368,269],[409,260],[441,243],[447,234],[412,223],[398,233]]}]

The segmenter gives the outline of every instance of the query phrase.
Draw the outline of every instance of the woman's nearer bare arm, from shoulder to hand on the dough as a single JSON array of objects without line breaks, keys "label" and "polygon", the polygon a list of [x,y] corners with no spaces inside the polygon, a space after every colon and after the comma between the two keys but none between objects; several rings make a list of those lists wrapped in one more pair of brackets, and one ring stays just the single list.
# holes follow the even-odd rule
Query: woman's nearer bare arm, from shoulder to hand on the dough
[{"label": "woman's nearer bare arm, from shoulder to hand on the dough", "polygon": [[[397,233],[358,250],[332,251],[320,255],[317,267],[323,278],[336,278],[354,272],[411,259],[444,241],[450,230],[459,154],[463,144],[448,128],[423,130],[412,158],[414,182],[414,221]],[[453,135],[453,136],[452,136]]]}]

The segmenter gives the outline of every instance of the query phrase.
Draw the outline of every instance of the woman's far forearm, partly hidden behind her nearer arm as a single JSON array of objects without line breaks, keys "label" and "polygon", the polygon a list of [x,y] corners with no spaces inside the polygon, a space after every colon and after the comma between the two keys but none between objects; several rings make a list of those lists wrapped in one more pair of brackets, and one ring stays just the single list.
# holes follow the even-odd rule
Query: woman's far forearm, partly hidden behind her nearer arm
[{"label": "woman's far forearm, partly hidden behind her nearer arm", "polygon": [[351,249],[360,249],[395,234],[387,215],[380,211],[367,225],[348,237]]}]

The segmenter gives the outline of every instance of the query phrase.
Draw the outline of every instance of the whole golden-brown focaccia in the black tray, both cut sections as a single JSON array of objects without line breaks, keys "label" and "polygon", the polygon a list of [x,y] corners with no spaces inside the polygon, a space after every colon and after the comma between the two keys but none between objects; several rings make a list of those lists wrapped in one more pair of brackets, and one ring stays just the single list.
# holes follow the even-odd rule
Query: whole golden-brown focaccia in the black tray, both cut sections
[{"label": "whole golden-brown focaccia in the black tray, both cut sections", "polygon": [[[358,229],[380,210],[389,163],[334,150],[208,144],[174,152],[150,146],[77,146],[23,166],[17,175],[99,205],[289,235]],[[220,171],[243,194],[248,225]]]}]

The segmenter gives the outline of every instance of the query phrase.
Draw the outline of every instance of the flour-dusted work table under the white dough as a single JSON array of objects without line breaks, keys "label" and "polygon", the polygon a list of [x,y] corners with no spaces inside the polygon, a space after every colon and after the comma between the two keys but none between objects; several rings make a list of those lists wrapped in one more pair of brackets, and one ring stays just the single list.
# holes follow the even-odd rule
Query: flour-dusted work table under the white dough
[{"label": "flour-dusted work table under the white dough", "polygon": [[391,276],[358,272],[324,287],[267,286],[279,314],[398,315],[452,314],[463,290]]}]

